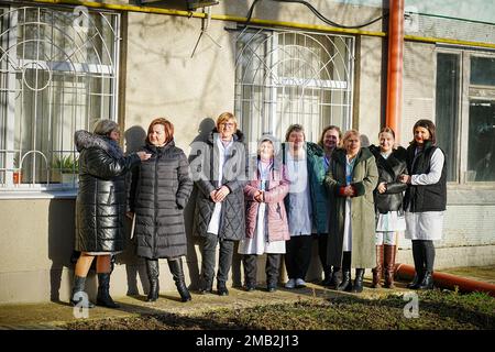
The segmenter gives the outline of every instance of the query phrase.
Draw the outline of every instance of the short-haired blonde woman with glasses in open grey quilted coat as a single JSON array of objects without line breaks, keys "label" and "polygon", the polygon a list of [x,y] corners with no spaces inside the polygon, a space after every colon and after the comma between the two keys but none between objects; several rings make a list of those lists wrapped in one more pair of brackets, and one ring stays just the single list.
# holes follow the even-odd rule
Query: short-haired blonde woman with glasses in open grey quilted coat
[{"label": "short-haired blonde woman with glasses in open grey quilted coat", "polygon": [[198,188],[194,234],[201,239],[201,294],[212,292],[215,256],[220,243],[217,293],[229,295],[226,283],[232,265],[234,241],[245,235],[248,166],[243,142],[244,135],[238,130],[235,117],[223,112],[207,143],[191,153],[190,169]]}]

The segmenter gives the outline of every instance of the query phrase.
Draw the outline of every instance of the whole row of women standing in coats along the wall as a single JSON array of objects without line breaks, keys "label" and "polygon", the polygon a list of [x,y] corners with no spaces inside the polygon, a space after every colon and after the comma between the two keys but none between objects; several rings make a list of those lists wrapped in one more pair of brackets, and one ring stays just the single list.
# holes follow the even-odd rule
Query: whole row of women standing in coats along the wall
[{"label": "whole row of women standing in coats along the wall", "polygon": [[[136,254],[146,262],[147,300],[158,298],[158,258],[167,258],[180,299],[190,300],[182,257],[187,244],[183,211],[193,185],[198,189],[194,235],[200,239],[201,294],[213,292],[215,277],[217,294],[229,294],[238,241],[246,290],[256,288],[262,254],[266,254],[267,292],[277,289],[282,255],[288,276],[285,287],[304,287],[314,238],[324,286],[360,293],[364,270],[373,267],[373,287],[380,287],[383,275],[385,286],[394,287],[397,233],[404,230],[413,240],[417,274],[409,287],[432,287],[432,241],[441,238],[447,191],[444,156],[429,120],[415,124],[407,151],[394,148],[394,131],[388,128],[380,133],[380,146],[367,148],[361,146],[356,130],[342,138],[338,127],[328,127],[315,144],[306,141],[301,125],[293,124],[285,143],[263,135],[250,158],[235,117],[226,112],[202,147],[194,151],[190,164],[175,146],[174,127],[166,119],[153,120],[143,148],[128,156],[120,151],[118,136],[118,125],[108,120],[92,134],[76,132],[80,152],[76,250],[81,255],[73,305],[92,306],[84,288],[92,258],[98,257],[97,304],[118,307],[109,295],[107,262],[123,250],[125,215],[135,221]],[[128,191],[127,173],[132,176]],[[353,283],[351,267],[356,268]]]}]

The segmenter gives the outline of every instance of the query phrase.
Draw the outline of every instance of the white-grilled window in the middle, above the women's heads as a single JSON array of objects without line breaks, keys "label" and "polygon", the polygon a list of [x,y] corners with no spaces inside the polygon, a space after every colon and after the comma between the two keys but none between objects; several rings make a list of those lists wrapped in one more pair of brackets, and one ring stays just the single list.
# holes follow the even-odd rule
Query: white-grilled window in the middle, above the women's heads
[{"label": "white-grilled window in the middle, above the women's heads", "polygon": [[248,28],[237,50],[235,114],[250,141],[283,140],[293,123],[314,142],[326,125],[351,128],[353,37]]}]

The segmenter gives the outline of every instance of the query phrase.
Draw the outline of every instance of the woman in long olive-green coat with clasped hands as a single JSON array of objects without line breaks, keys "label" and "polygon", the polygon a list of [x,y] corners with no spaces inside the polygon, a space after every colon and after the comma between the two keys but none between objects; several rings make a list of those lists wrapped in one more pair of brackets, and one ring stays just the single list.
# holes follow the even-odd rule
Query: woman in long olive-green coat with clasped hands
[{"label": "woman in long olive-green coat with clasped hands", "polygon": [[[326,176],[330,195],[328,263],[342,267],[338,290],[361,293],[364,270],[376,265],[373,190],[378,170],[373,154],[361,147],[356,130],[345,132],[343,146],[333,152]],[[354,285],[352,266],[356,268]]]}]

